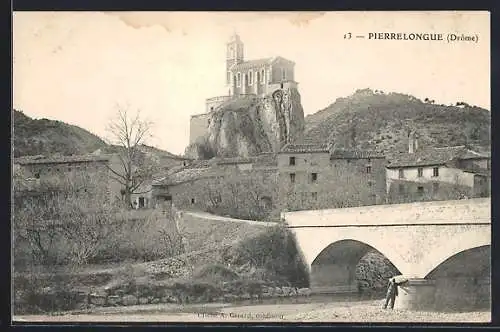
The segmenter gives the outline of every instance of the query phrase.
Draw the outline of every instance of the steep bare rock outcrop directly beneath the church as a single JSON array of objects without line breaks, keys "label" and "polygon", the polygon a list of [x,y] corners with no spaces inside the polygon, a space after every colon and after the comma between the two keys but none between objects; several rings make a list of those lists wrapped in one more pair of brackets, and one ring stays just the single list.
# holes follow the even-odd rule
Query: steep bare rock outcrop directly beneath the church
[{"label": "steep bare rock outcrop directly beneath the church", "polygon": [[[276,152],[302,139],[304,111],[297,89],[279,89],[259,98],[244,96],[221,105],[209,118],[208,132],[186,153],[200,156],[211,151],[218,157],[248,157]],[[196,145],[205,144],[203,149]]]}]

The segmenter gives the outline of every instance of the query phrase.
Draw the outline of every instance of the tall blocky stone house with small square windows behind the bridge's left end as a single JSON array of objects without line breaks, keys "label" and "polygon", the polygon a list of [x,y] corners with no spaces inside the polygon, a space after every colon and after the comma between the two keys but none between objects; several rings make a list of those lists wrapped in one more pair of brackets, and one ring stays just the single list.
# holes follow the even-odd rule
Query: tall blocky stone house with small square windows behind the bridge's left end
[{"label": "tall blocky stone house with small square windows behind the bridge's left end", "polygon": [[282,209],[311,210],[385,203],[385,157],[327,144],[288,144],[278,154]]}]

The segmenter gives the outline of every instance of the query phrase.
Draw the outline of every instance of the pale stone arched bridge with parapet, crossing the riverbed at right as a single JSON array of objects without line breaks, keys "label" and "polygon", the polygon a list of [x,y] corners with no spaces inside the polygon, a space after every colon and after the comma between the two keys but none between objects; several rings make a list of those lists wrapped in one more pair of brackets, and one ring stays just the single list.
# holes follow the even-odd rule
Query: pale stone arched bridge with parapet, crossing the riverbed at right
[{"label": "pale stone arched bridge with parapet, crossing the riverbed at right", "polygon": [[370,250],[409,278],[396,307],[490,305],[490,198],[285,212],[317,292],[357,291],[355,269]]}]

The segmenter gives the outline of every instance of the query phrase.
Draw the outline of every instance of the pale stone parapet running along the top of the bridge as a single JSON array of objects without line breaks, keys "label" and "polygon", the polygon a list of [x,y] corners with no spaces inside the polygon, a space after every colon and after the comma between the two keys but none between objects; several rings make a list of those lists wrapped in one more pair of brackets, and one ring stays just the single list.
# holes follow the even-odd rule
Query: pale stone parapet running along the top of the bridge
[{"label": "pale stone parapet running along the top of the bridge", "polygon": [[491,224],[491,199],[284,212],[289,227]]}]

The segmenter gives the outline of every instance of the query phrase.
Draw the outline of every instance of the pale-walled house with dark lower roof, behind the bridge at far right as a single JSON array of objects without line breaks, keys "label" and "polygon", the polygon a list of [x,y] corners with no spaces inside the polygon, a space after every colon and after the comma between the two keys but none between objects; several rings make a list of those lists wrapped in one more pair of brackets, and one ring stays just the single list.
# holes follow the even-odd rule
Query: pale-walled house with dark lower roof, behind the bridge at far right
[{"label": "pale-walled house with dark lower roof, behind the bridge at far right", "polygon": [[465,146],[410,148],[387,165],[391,203],[487,197],[490,187],[490,154]]}]

